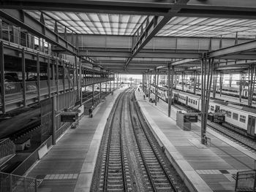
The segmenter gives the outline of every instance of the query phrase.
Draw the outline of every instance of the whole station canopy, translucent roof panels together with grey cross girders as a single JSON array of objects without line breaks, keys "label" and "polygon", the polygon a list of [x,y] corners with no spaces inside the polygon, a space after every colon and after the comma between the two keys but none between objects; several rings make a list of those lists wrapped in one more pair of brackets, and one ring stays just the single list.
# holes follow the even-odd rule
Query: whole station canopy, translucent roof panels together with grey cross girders
[{"label": "whole station canopy, translucent roof panels together with grey cross girders", "polygon": [[[193,72],[200,70],[202,53],[254,41],[256,37],[255,19],[173,16],[138,53],[133,54],[138,41],[136,35],[143,34],[148,21],[154,20],[154,15],[49,10],[26,12],[37,20],[43,12],[45,25],[53,31],[56,21],[61,23],[59,34],[66,30],[67,35],[78,35],[80,53],[113,72],[141,73],[157,67],[165,70],[168,64],[175,65],[177,71]],[[239,54],[219,56],[216,59],[218,69],[222,70],[226,65],[225,71],[241,71],[256,61],[254,49]]]}]

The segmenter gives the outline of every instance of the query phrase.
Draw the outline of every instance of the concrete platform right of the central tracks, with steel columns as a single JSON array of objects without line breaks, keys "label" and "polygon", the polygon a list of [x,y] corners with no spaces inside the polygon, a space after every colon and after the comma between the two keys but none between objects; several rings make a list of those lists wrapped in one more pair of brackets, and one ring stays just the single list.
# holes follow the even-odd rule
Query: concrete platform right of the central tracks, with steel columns
[{"label": "concrete platform right of the central tracks, with steel columns", "polygon": [[171,118],[167,117],[167,103],[159,100],[157,106],[143,99],[136,91],[138,104],[151,125],[151,131],[190,191],[235,190],[236,172],[254,169],[255,153],[226,139],[208,128],[211,145],[200,144],[200,123],[192,123],[191,131],[176,126],[176,110],[172,107]]}]

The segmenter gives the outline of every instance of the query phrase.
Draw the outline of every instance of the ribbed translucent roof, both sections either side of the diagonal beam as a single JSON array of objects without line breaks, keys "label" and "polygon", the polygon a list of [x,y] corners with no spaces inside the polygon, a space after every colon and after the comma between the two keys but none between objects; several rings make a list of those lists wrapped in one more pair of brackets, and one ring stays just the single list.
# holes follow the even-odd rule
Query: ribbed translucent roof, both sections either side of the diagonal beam
[{"label": "ribbed translucent roof, both sections either side of the diagonal beam", "polygon": [[[41,12],[26,11],[39,20]],[[59,32],[67,26],[78,34],[133,35],[146,19],[145,15],[118,15],[84,12],[45,12],[45,23],[53,29],[57,20]],[[153,18],[150,16],[150,20]],[[146,24],[146,23],[144,23]],[[145,28],[145,27],[144,27]],[[70,33],[70,30],[67,30]],[[223,37],[255,39],[256,20],[231,18],[173,17],[158,32],[158,37]]]}]

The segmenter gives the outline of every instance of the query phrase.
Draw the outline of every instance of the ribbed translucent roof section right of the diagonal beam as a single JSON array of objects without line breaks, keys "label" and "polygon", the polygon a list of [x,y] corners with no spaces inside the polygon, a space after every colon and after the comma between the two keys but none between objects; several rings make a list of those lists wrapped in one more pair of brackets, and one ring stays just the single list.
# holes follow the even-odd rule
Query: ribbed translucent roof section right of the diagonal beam
[{"label": "ribbed translucent roof section right of the diagonal beam", "polygon": [[230,18],[174,17],[157,36],[223,37],[255,39],[256,20]]}]

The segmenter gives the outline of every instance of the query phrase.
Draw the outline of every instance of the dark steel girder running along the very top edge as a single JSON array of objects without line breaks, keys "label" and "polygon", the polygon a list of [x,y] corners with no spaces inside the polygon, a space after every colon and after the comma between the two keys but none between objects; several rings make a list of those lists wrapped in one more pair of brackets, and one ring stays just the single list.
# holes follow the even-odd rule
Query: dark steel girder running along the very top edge
[{"label": "dark steel girder running along the very top edge", "polygon": [[[4,9],[38,9],[69,12],[104,12],[129,15],[166,15],[173,0],[0,0]],[[256,18],[255,0],[190,0],[181,6],[178,16],[217,18]]]}]

